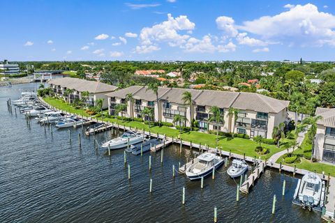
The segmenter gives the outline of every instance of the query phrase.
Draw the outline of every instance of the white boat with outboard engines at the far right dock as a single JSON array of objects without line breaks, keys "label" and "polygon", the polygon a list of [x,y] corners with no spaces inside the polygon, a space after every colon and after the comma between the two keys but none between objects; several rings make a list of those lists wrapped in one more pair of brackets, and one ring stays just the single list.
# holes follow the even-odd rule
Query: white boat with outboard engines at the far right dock
[{"label": "white boat with outboard engines at the far right dock", "polygon": [[322,210],[325,199],[325,182],[322,182],[320,176],[309,172],[305,174],[301,180],[298,180],[295,189],[293,203],[299,204],[309,210]]}]

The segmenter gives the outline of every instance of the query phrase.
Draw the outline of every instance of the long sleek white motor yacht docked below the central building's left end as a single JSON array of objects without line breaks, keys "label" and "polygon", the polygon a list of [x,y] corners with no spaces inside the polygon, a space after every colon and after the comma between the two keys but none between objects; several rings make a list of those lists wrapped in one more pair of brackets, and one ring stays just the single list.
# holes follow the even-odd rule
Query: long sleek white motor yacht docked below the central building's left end
[{"label": "long sleek white motor yacht docked below the central building's left end", "polygon": [[124,148],[128,146],[128,144],[129,146],[138,144],[141,141],[144,141],[144,138],[145,137],[142,134],[135,133],[133,131],[127,131],[124,132],[121,137],[106,141],[101,147],[110,149]]}]

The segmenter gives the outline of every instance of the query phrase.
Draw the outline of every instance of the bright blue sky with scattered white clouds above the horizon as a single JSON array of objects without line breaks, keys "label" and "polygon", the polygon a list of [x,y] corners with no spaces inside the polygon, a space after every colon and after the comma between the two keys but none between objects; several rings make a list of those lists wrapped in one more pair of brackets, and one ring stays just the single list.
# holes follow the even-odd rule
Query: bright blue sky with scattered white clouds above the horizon
[{"label": "bright blue sky with scattered white clouds above the horizon", "polygon": [[334,1],[1,0],[0,60],[335,61]]}]

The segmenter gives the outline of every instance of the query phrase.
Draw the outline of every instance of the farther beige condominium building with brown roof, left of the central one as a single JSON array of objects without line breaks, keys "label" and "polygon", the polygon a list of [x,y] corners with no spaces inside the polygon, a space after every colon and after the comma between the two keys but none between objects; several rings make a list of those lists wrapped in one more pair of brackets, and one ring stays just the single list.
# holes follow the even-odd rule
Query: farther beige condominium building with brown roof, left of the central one
[{"label": "farther beige condominium building with brown roof, left of the central one", "polygon": [[[102,98],[104,109],[108,107],[106,93],[110,93],[117,89],[116,86],[110,84],[71,77],[50,79],[48,83],[56,95],[63,97],[64,100],[67,100],[68,102],[73,102],[76,99],[81,100],[83,92],[89,93],[86,100],[87,106],[94,106],[96,100]],[[66,91],[67,89],[70,89],[70,93]]]}]

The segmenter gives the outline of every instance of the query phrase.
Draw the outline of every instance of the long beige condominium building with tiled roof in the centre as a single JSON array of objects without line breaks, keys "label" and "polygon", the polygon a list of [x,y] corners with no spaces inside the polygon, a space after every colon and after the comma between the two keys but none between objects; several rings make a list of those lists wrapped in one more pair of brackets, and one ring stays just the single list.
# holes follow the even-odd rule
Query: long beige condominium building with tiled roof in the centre
[{"label": "long beige condominium building with tiled roof in the centre", "polygon": [[[183,100],[186,91],[191,93],[191,106]],[[127,94],[132,95],[133,102],[126,101]],[[288,121],[289,101],[257,93],[159,88],[158,105],[156,94],[141,86],[131,86],[108,93],[107,96],[110,98],[110,114],[114,114],[113,107],[118,103],[126,103],[128,117],[141,117],[144,107],[149,107],[153,109],[155,121],[172,123],[178,114],[186,118],[186,126],[190,126],[194,119],[204,131],[218,129],[221,132],[248,134],[250,137],[261,135],[271,138],[273,128]],[[219,123],[210,121],[213,106],[220,109],[222,121]],[[229,114],[230,107],[237,109],[236,118]]]}]

